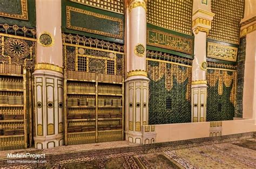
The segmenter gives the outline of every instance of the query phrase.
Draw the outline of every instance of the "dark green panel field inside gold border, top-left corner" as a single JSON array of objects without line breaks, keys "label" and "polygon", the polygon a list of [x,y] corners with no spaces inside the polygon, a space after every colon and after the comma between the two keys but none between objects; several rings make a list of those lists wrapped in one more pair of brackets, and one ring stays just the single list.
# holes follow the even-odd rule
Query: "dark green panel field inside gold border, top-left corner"
[{"label": "dark green panel field inside gold border, top-left corner", "polygon": [[21,0],[0,0],[0,12],[21,15]]}]

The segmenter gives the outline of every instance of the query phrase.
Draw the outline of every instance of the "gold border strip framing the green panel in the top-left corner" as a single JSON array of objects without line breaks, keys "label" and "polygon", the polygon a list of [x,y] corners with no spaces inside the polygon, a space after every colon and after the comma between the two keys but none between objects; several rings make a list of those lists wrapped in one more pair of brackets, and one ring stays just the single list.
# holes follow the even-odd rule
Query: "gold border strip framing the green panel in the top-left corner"
[{"label": "gold border strip framing the green panel in the top-left corner", "polygon": [[[27,0],[19,0],[21,1],[21,14],[14,14],[14,13],[7,13],[7,12],[0,12],[0,16],[14,18],[14,19],[22,19],[22,20],[29,20],[28,17],[28,2]],[[17,7],[17,6],[16,6]]]}]

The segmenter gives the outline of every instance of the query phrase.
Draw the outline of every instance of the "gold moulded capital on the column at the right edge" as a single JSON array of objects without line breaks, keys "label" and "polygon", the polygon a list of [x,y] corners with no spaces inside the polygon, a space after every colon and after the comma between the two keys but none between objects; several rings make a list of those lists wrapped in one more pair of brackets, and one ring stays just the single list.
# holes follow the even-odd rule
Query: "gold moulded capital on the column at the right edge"
[{"label": "gold moulded capital on the column at the right edge", "polygon": [[244,20],[240,25],[240,37],[244,37],[246,34],[256,31],[256,16]]}]

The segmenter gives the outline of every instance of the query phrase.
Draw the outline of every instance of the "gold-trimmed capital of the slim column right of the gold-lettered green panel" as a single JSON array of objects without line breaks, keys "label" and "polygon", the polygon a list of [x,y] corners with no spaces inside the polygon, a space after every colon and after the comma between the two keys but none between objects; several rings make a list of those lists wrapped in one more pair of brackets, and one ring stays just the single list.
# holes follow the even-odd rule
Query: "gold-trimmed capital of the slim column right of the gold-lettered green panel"
[{"label": "gold-trimmed capital of the slim column right of the gold-lettered green panel", "polygon": [[214,17],[214,13],[198,9],[193,13],[192,16],[192,30],[194,33],[198,34],[198,32],[206,32],[208,35],[211,30],[212,19]]}]

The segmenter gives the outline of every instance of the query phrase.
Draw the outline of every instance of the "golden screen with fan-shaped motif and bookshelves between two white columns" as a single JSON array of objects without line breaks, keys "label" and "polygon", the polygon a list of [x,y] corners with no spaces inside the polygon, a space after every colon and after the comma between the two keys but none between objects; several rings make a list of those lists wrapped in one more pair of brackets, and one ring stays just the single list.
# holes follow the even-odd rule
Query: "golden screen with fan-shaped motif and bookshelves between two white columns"
[{"label": "golden screen with fan-shaped motif and bookshelves between two white columns", "polygon": [[63,34],[65,144],[124,139],[124,47]]}]

